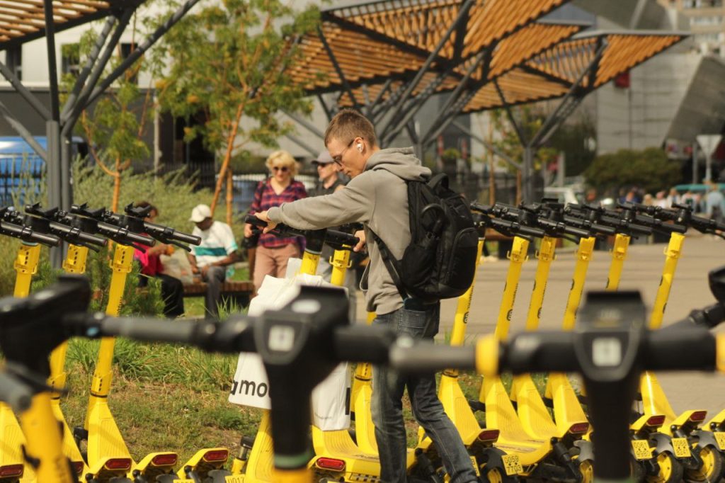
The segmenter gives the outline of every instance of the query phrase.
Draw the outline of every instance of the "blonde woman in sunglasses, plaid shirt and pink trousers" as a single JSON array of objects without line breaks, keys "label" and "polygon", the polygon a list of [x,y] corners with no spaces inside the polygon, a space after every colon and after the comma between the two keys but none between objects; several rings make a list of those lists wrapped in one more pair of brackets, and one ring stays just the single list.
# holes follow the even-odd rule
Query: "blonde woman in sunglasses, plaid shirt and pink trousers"
[{"label": "blonde woman in sunglasses, plaid shirt and pink trousers", "polygon": [[[249,207],[249,214],[269,210],[282,203],[294,202],[307,197],[305,185],[294,181],[297,174],[297,162],[289,152],[275,151],[267,158],[270,177],[260,181],[254,191],[254,202]],[[244,237],[252,236],[252,226],[244,225]],[[254,260],[254,290],[260,288],[266,275],[283,277],[287,270],[287,260],[299,257],[302,253],[302,239],[299,237],[281,237],[273,234],[262,234],[257,244]]]}]

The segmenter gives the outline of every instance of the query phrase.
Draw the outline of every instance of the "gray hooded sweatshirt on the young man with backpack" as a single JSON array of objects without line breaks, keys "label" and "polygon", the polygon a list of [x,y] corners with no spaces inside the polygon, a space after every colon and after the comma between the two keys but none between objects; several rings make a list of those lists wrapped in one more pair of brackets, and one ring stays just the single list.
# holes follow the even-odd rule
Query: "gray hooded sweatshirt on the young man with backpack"
[{"label": "gray hooded sweatshirt on the young man with backpack", "polygon": [[381,149],[368,159],[365,171],[352,178],[344,189],[323,197],[298,199],[270,208],[276,223],[302,230],[317,230],[345,223],[365,225],[370,263],[365,268],[361,289],[368,311],[379,315],[403,305],[370,230],[385,242],[392,255],[402,258],[410,244],[407,186],[404,180],[426,181],[431,170],[413,155],[413,148]]}]

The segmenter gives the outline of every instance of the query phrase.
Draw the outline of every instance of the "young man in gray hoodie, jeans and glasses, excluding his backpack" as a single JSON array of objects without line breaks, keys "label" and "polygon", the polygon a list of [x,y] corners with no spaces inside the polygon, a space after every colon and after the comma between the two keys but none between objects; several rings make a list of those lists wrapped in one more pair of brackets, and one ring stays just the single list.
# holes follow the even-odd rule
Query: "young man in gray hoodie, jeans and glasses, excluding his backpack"
[{"label": "young man in gray hoodie, jeans and glasses, excluding his backpack", "polygon": [[[284,223],[303,230],[316,230],[361,222],[356,250],[377,234],[398,259],[410,244],[407,186],[405,181],[424,181],[431,170],[421,166],[412,148],[380,149],[370,121],[354,110],[342,110],[325,133],[325,145],[350,181],[344,189],[323,197],[299,199],[258,212],[268,222],[267,231]],[[415,298],[403,300],[375,243],[368,245],[370,263],[363,274],[368,311],[377,314],[373,323],[396,329],[399,334],[433,338],[438,332],[440,304],[423,304]],[[407,387],[415,419],[433,439],[452,483],[477,482],[471,460],[457,429],[444,413],[436,395],[434,374],[396,376],[384,367],[373,368],[372,413],[381,464],[381,481],[405,483],[407,450],[402,416],[402,395]]]}]

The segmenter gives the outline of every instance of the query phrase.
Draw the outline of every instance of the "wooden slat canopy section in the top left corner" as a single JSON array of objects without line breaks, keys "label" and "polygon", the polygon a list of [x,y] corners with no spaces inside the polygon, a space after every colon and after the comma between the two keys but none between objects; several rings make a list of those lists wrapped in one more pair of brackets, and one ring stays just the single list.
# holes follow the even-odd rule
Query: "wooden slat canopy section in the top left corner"
[{"label": "wooden slat canopy section in the top left corner", "polygon": [[[57,32],[110,15],[143,0],[53,0]],[[43,0],[0,0],[0,50],[45,36]]]}]

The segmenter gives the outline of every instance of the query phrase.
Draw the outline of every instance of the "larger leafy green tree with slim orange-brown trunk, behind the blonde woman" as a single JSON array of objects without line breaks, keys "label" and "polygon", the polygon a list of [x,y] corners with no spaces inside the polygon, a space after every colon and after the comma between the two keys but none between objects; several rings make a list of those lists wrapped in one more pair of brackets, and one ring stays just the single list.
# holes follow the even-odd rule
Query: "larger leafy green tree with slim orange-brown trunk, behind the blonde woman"
[{"label": "larger leafy green tree with slim orange-brown trunk, behind the blonde woman", "polygon": [[[298,12],[279,0],[223,0],[187,15],[157,51],[167,64],[157,83],[162,109],[201,118],[186,129],[186,141],[202,136],[208,148],[223,153],[212,212],[233,155],[250,142],[276,146],[293,128],[278,120],[279,110],[311,112],[289,67],[301,60],[294,40],[318,21],[316,7]],[[231,223],[229,204],[227,218]]]}]

